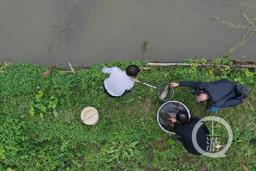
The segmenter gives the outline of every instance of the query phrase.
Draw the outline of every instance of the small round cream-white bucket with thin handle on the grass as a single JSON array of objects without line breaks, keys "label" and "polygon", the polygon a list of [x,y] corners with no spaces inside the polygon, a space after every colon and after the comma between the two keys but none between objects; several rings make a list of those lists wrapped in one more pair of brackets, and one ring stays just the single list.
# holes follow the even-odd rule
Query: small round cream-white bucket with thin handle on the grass
[{"label": "small round cream-white bucket with thin handle on the grass", "polygon": [[99,121],[98,111],[94,107],[86,107],[81,112],[81,121],[86,125],[96,125]]}]

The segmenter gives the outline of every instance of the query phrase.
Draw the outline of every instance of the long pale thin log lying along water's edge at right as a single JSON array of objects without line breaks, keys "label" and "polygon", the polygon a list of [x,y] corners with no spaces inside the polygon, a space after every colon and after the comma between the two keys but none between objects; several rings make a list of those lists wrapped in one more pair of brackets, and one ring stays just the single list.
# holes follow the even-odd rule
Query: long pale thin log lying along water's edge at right
[{"label": "long pale thin log lying along water's edge at right", "polygon": [[[185,67],[189,67],[191,65],[191,63],[152,63],[152,62],[149,62],[149,63],[147,63],[147,65],[151,65],[151,66],[185,66]],[[197,66],[215,66],[215,64],[213,64],[213,63],[205,63],[205,65],[203,65],[203,64],[199,63],[199,64],[197,64]],[[224,67],[226,65],[219,64],[217,66]],[[231,65],[230,67],[256,68],[255,65]]]}]

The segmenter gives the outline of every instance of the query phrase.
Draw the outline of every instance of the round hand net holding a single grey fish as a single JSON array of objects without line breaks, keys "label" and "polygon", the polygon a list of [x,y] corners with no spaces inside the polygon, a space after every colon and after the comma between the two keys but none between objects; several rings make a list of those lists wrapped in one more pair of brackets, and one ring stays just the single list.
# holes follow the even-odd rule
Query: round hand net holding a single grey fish
[{"label": "round hand net holding a single grey fish", "polygon": [[173,88],[169,83],[162,83],[158,87],[158,97],[163,101],[170,101],[173,97]]}]

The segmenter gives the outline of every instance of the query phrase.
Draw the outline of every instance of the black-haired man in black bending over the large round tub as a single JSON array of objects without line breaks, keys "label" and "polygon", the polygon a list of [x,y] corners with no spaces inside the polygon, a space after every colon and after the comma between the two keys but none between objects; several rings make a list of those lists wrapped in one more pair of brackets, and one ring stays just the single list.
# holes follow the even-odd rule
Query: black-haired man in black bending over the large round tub
[{"label": "black-haired man in black bending over the large round tub", "polygon": [[[211,147],[211,140],[209,138],[209,130],[203,123],[196,134],[196,140],[198,143],[198,146],[204,151],[204,153],[200,153],[195,148],[195,144],[193,144],[192,140],[192,132],[195,127],[195,125],[200,122],[200,118],[189,118],[188,113],[185,110],[179,111],[179,113],[176,114],[176,119],[174,117],[169,118],[174,123],[174,131],[177,135],[181,136],[180,138],[177,138],[176,136],[173,136],[174,139],[180,140],[180,142],[183,144],[183,146],[186,148],[186,150],[189,153],[195,154],[195,155],[203,155],[204,153],[208,152]],[[178,122],[179,123],[178,123]]]}]

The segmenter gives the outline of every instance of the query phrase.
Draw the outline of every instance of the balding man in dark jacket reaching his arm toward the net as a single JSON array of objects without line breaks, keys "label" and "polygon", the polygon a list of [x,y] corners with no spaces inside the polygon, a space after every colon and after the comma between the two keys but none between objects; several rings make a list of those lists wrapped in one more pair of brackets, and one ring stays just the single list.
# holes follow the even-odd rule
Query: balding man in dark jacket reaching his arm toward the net
[{"label": "balding man in dark jacket reaching his arm toward the net", "polygon": [[221,79],[215,82],[204,83],[196,81],[183,81],[181,83],[171,83],[171,86],[191,87],[191,93],[196,94],[196,101],[201,103],[210,103],[210,108],[206,112],[217,112],[222,108],[233,107],[242,100],[236,99],[236,85],[227,79]]}]

